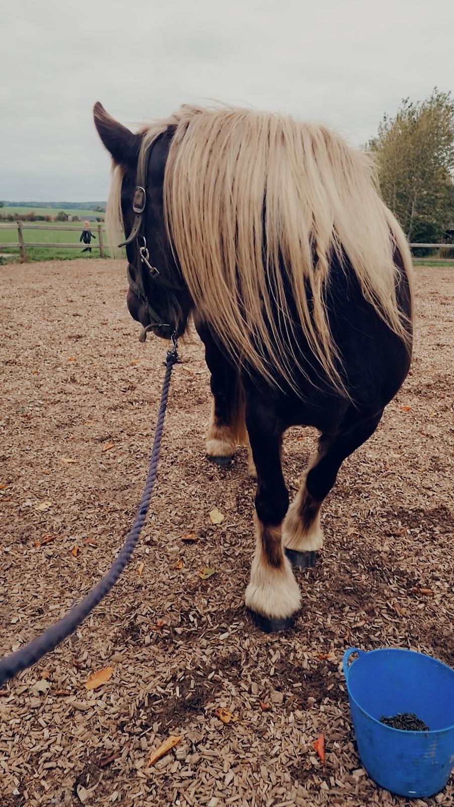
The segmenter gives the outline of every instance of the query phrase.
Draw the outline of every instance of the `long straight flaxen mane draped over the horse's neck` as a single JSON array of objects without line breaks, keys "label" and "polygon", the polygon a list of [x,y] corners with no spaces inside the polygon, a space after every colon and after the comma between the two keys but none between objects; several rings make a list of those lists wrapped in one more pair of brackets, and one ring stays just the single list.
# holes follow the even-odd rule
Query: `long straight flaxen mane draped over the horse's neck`
[{"label": "long straight flaxen mane draped over the horse's neck", "polygon": [[[139,160],[169,126],[170,244],[196,310],[234,358],[294,387],[301,326],[314,358],[345,393],[326,312],[334,255],[341,264],[347,258],[365,299],[410,344],[394,264],[397,248],[411,282],[410,250],[380,199],[367,154],[325,125],[185,106],[143,131]],[[111,231],[121,220],[120,187],[116,168],[107,204]]]}]

